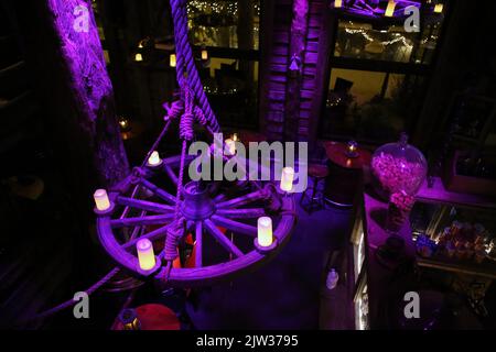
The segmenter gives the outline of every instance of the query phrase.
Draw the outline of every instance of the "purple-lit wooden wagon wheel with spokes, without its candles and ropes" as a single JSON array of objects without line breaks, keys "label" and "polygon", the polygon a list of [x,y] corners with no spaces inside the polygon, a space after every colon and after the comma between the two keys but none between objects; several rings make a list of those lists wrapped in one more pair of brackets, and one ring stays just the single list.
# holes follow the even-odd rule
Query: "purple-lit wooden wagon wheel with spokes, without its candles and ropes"
[{"label": "purple-lit wooden wagon wheel with spokes, without its candles and ropes", "polygon": [[[181,200],[180,208],[186,230],[192,232],[196,243],[195,267],[171,268],[165,279],[166,263],[162,263],[162,249],[158,254],[157,266],[149,272],[141,271],[136,254],[137,241],[147,238],[155,248],[160,246],[173,220],[173,209],[176,206],[175,197],[150,182],[150,178],[154,176],[160,179],[162,176],[163,179],[163,176],[168,175],[170,180],[175,183],[175,168],[180,160],[180,156],[165,158],[159,168],[137,168],[119,190],[109,194],[111,209],[106,212],[97,211],[97,230],[101,245],[120,266],[140,278],[153,277],[169,286],[194,287],[230,278],[237,273],[255,268],[274,256],[288,242],[295,222],[293,195],[278,193],[270,182],[265,185],[246,182],[242,194],[234,198],[225,193],[198,190],[197,183],[188,183],[184,187],[184,199]],[[239,183],[233,183],[231,186],[239,188]],[[148,199],[143,199],[143,195],[147,195]],[[274,202],[277,206],[273,206]],[[223,227],[231,231],[234,239],[251,237],[255,240],[257,227],[247,221],[268,215],[274,223],[274,243],[267,249],[250,241],[251,245],[245,245],[241,250],[218,229]],[[150,230],[150,226],[158,228]],[[205,266],[202,255],[208,251],[204,245],[205,235],[212,235],[233,260]]]}]

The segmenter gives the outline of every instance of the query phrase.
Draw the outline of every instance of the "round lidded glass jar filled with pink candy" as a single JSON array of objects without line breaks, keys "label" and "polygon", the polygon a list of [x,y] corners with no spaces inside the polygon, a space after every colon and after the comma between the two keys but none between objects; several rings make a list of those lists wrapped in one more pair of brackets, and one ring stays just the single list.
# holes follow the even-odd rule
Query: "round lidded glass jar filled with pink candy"
[{"label": "round lidded glass jar filled with pink candy", "polygon": [[378,147],[370,165],[374,188],[386,201],[398,193],[414,197],[428,170],[425,157],[408,144],[406,133],[401,134],[399,142]]}]

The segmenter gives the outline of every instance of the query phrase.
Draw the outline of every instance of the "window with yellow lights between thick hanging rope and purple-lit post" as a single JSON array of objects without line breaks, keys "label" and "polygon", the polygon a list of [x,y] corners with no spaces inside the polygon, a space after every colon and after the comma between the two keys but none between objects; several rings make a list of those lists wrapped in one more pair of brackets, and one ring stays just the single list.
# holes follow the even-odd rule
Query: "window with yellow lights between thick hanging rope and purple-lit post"
[{"label": "window with yellow lights between thick hanging rope and purple-lit post", "polygon": [[193,45],[208,52],[200,72],[219,123],[256,129],[260,0],[193,0],[187,16]]}]

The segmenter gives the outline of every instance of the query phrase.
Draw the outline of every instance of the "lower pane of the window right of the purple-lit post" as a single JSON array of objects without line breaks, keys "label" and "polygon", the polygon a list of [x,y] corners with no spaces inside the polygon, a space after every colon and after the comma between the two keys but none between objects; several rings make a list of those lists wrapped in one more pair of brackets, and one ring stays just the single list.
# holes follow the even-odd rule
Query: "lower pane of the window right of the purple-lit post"
[{"label": "lower pane of the window right of the purple-lit post", "polygon": [[391,141],[411,129],[423,79],[412,75],[334,68],[322,127],[323,138]]}]

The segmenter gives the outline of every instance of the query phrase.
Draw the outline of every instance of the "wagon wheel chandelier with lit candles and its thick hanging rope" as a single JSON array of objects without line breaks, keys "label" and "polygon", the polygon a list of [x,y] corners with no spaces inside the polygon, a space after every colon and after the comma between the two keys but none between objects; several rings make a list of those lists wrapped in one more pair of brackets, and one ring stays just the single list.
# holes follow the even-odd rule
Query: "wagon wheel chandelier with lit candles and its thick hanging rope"
[{"label": "wagon wheel chandelier with lit candles and its thick hanging rope", "polygon": [[[121,268],[140,279],[194,287],[229,278],[274,256],[294,228],[295,202],[291,193],[281,191],[272,182],[186,183],[185,168],[191,162],[186,147],[194,139],[194,123],[212,135],[220,128],[188,43],[186,1],[171,0],[171,8],[181,99],[164,106],[165,125],[143,163],[108,194],[95,193],[95,212],[99,241]],[[161,160],[155,150],[175,120],[181,155]],[[165,178],[175,185],[175,195],[160,186]],[[206,265],[206,235],[227,251],[226,261],[211,260]],[[175,265],[184,261],[179,249],[185,241],[195,243],[194,267]]]}]

